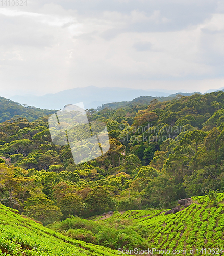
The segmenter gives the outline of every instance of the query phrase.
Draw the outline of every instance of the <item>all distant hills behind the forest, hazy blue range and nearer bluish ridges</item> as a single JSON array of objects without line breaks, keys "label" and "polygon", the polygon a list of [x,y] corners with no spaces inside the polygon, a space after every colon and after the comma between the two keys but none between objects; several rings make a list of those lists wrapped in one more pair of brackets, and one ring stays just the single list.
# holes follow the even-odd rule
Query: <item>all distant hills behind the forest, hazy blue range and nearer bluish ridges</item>
[{"label": "all distant hills behind the forest, hazy blue range and nearer bluish ridges", "polygon": [[[219,89],[215,91],[219,91]],[[148,105],[153,99],[162,102],[172,100],[178,94],[190,96],[195,93],[201,94],[200,92],[177,92],[169,94],[167,92],[145,91],[140,89],[120,87],[99,88],[89,86],[64,90],[55,94],[46,94],[44,96],[16,95],[11,97],[11,99],[0,97],[0,123],[9,120],[16,115],[25,117],[29,121],[33,121],[38,117],[52,114],[56,110],[62,109],[65,105],[76,104],[79,102],[83,102],[86,109],[117,109],[126,105]]]}]

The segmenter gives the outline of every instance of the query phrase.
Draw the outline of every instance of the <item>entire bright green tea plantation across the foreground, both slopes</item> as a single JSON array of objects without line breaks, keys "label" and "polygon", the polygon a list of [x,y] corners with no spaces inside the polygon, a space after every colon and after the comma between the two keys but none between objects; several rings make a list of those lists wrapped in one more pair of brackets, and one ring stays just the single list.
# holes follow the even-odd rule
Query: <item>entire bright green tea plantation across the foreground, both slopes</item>
[{"label": "entire bright green tea plantation across the foreground, both slopes", "polygon": [[[222,255],[224,193],[217,194],[215,203],[208,196],[192,197],[192,200],[189,207],[176,214],[164,215],[167,210],[156,209],[117,211],[105,219],[103,216],[94,216],[91,220],[71,217],[49,225],[51,229],[24,219],[16,210],[0,205],[0,255],[118,255],[117,250],[107,248],[111,247],[109,243],[103,247],[94,245],[94,242],[98,243],[96,240],[86,243],[72,238],[79,239],[77,232],[82,233],[82,230],[83,234],[92,234],[89,238],[97,238],[104,228],[108,229],[108,236],[115,229],[119,231],[123,241],[129,232],[136,232],[136,239],[137,236],[142,238],[142,245],[138,246],[142,249],[169,249],[169,255],[173,255],[174,249],[186,250],[182,253],[185,255],[192,255],[188,253],[189,249],[194,249],[197,255]],[[122,247],[125,250],[133,248],[128,243]]]}]

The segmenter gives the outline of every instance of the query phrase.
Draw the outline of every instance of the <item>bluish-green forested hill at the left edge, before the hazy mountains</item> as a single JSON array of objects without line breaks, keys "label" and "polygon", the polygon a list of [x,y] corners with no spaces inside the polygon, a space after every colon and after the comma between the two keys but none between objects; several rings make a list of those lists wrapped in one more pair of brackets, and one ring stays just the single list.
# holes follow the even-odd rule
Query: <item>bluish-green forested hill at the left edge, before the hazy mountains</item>
[{"label": "bluish-green forested hill at the left edge, before the hazy mountains", "polygon": [[42,117],[54,113],[54,110],[41,110],[34,106],[20,105],[12,100],[0,97],[0,122],[4,122],[17,116],[27,118],[30,122]]}]

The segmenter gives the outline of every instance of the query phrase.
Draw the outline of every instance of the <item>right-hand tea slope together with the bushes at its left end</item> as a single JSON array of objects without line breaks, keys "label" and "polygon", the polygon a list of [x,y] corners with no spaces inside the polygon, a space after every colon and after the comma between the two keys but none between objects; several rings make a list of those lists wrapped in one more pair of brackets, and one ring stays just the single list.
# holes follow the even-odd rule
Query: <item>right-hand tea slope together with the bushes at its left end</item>
[{"label": "right-hand tea slope together with the bushes at its left end", "polygon": [[224,193],[218,193],[215,198],[216,206],[209,196],[193,197],[194,203],[176,214],[164,215],[164,210],[153,209],[130,210],[114,212],[107,219],[103,219],[104,216],[91,217],[92,220],[73,217],[52,224],[51,228],[111,248],[224,250]]}]

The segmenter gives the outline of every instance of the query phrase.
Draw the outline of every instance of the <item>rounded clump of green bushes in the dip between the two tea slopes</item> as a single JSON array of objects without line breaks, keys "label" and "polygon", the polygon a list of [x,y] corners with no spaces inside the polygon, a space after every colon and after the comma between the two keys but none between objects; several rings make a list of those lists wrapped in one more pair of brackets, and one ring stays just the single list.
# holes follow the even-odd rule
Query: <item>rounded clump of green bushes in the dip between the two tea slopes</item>
[{"label": "rounded clump of green bushes in the dip between the two tea slopes", "polygon": [[71,238],[112,249],[148,248],[146,240],[136,233],[136,230],[129,227],[129,220],[120,220],[119,222],[117,219],[116,222],[118,223],[96,222],[72,216],[62,222],[55,222],[48,227]]}]

